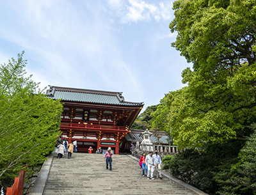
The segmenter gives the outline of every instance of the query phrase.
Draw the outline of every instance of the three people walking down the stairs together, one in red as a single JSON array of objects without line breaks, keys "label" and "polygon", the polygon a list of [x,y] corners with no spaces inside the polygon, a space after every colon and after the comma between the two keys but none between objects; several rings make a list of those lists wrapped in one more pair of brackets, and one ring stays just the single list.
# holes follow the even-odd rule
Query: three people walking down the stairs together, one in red
[{"label": "three people walking down the stairs together, one in red", "polygon": [[145,152],[143,152],[142,156],[140,157],[140,166],[142,168],[142,176],[145,176],[145,171],[147,173],[148,180],[154,180],[153,177],[154,171],[156,170],[156,178],[162,179],[161,169],[162,169],[162,160],[161,157],[157,154],[157,150],[155,150],[155,153],[153,155],[153,152],[148,153],[146,155]]}]

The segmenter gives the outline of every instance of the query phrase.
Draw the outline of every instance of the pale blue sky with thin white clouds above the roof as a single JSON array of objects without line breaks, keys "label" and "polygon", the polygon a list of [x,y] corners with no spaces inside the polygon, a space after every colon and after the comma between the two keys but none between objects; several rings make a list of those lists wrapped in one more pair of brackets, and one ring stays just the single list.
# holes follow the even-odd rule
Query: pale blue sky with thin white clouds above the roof
[{"label": "pale blue sky with thin white clouds above the roof", "polygon": [[26,70],[44,86],[121,91],[159,104],[184,86],[191,66],[171,47],[173,1],[24,0],[0,2],[0,63],[25,51]]}]

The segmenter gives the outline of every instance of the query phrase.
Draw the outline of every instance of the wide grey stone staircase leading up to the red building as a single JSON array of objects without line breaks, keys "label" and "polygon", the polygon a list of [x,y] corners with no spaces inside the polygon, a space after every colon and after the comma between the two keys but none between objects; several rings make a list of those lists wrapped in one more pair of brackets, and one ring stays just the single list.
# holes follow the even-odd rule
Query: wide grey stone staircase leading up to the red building
[{"label": "wide grey stone staircase leading up to the red building", "polygon": [[127,155],[114,155],[112,171],[106,169],[104,155],[73,153],[63,159],[54,157],[47,178],[44,195],[49,194],[186,194],[185,189],[168,178],[147,180],[134,159]]}]

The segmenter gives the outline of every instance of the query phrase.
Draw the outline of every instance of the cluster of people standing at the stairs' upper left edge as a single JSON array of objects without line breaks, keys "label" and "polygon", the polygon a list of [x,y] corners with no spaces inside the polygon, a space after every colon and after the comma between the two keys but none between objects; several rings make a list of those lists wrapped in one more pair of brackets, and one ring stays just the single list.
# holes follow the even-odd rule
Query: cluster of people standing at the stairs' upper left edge
[{"label": "cluster of people standing at the stairs' upper left edge", "polygon": [[77,152],[77,140],[68,143],[67,139],[63,141],[62,137],[58,137],[56,141],[56,153],[58,154],[58,159],[61,159],[65,152],[68,153],[68,159],[71,158],[73,152]]}]

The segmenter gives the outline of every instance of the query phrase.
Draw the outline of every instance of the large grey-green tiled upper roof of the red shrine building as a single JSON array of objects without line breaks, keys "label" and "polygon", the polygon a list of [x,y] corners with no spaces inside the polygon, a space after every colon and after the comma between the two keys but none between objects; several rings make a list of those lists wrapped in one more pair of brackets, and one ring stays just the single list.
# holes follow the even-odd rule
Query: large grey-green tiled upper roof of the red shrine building
[{"label": "large grey-green tiled upper roof of the red shrine building", "polygon": [[86,102],[95,104],[143,106],[143,102],[125,102],[122,92],[83,90],[77,88],[63,88],[50,86],[46,91],[49,98],[61,99],[70,102]]}]

